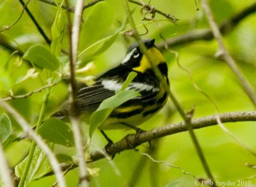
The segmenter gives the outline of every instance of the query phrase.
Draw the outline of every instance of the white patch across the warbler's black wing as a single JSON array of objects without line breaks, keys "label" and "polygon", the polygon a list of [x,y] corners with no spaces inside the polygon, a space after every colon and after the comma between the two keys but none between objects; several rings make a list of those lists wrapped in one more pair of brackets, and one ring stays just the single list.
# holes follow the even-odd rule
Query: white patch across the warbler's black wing
[{"label": "white patch across the warbler's black wing", "polygon": [[[122,84],[117,80],[102,80],[101,84],[104,86],[105,89],[109,89],[111,91],[118,91],[122,87]],[[135,90],[138,92],[150,90],[152,90],[153,92],[159,91],[159,88],[157,87],[139,82],[132,82],[126,89]]]}]

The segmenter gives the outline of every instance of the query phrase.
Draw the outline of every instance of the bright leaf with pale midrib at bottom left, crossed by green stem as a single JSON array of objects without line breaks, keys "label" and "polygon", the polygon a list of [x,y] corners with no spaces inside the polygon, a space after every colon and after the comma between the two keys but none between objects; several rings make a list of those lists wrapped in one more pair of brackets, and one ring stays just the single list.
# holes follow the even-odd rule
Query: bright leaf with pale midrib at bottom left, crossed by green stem
[{"label": "bright leaf with pale midrib at bottom left, crossed by green stem", "polygon": [[[53,144],[50,144],[50,147],[53,148]],[[17,177],[22,176],[27,160],[28,156],[24,160],[22,160],[18,165],[16,165],[15,175]],[[36,146],[35,152],[33,154],[33,160],[31,161],[31,165],[29,167],[28,175],[26,177],[24,186],[28,186],[29,183],[31,183],[31,181],[34,181],[35,179],[40,179],[51,170],[51,165],[47,160],[45,154],[38,146]]]}]

